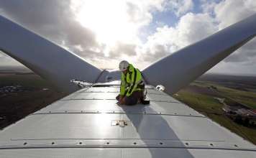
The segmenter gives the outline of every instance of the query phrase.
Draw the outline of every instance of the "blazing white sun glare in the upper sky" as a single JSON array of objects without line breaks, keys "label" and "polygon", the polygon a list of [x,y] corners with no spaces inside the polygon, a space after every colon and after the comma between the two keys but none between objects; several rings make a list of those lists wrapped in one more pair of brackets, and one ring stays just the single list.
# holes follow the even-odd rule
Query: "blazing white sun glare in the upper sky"
[{"label": "blazing white sun glare in the upper sky", "polygon": [[126,1],[73,1],[76,18],[83,27],[93,30],[98,42],[114,47],[117,42],[134,42],[136,24],[130,22]]}]

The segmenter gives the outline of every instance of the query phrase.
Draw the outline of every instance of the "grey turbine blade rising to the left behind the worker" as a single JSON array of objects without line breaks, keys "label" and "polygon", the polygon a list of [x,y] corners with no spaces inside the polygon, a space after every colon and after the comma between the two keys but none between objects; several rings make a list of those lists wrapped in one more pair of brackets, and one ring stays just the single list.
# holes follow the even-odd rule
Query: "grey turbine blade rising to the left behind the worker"
[{"label": "grey turbine blade rising to the left behind the worker", "polygon": [[102,71],[73,52],[2,16],[0,50],[68,93],[78,89],[70,80],[94,83]]}]

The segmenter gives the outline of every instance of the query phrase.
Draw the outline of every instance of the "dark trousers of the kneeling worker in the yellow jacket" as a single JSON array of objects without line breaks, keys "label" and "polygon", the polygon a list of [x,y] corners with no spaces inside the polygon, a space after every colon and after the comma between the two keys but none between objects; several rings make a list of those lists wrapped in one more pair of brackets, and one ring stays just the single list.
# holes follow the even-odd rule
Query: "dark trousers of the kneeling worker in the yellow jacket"
[{"label": "dark trousers of the kneeling worker in the yellow jacket", "polygon": [[[116,100],[119,101],[120,96],[116,96]],[[133,106],[143,99],[143,91],[134,91],[131,96],[124,97],[124,104],[127,106]]]}]

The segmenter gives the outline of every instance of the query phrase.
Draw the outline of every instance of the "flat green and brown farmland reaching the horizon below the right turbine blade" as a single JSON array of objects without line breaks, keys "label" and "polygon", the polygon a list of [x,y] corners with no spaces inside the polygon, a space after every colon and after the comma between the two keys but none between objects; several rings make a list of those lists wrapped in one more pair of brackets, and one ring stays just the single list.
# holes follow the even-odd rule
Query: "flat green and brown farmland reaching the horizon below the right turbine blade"
[{"label": "flat green and brown farmland reaching the horizon below the right turbine blade", "polygon": [[223,104],[216,98],[232,98],[249,108],[256,108],[256,77],[204,75],[173,95],[216,123],[256,144],[255,126],[238,124],[224,115]]}]

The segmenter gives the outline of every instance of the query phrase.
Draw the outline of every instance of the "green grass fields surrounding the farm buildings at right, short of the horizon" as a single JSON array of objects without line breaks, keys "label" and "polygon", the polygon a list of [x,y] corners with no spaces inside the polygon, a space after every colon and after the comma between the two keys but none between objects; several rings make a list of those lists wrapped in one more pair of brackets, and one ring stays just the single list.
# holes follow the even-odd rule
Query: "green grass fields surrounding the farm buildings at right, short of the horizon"
[{"label": "green grass fields surrounding the farm buildings at right, short of the horizon", "polygon": [[[214,86],[217,89],[217,96],[227,96],[239,101],[240,103],[244,103],[251,108],[256,108],[256,93],[250,91],[237,90],[233,88],[227,88],[223,85],[219,85],[218,83],[211,82],[203,82],[196,81],[191,83],[188,88],[183,88],[180,90],[177,95],[174,95],[174,98],[177,98],[179,101],[186,103],[191,108],[203,113],[208,116],[216,123],[221,126],[226,127],[230,131],[242,136],[244,139],[251,141],[253,144],[256,144],[256,128],[255,127],[247,127],[241,124],[237,124],[227,116],[224,115],[224,111],[222,111],[222,103],[219,103],[215,99],[214,93],[211,95],[207,94],[209,90],[212,90],[210,87]],[[191,90],[192,87],[193,90]],[[204,91],[205,88],[205,91]],[[200,90],[196,90],[200,89]]]}]

